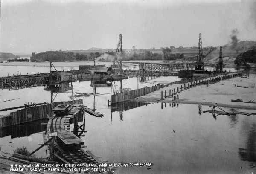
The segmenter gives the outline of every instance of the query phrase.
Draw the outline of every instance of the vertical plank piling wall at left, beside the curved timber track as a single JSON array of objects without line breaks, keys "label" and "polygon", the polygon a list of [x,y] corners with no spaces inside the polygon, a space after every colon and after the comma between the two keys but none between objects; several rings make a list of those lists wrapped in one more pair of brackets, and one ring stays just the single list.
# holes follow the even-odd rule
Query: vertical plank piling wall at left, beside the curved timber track
[{"label": "vertical plank piling wall at left, beside the curved timber track", "polygon": [[[83,104],[83,100],[74,100],[74,103]],[[39,119],[47,118],[53,115],[52,109],[58,104],[70,104],[70,102],[54,102],[52,104],[44,104],[41,106],[27,107],[22,110],[17,110],[10,115],[0,116],[0,128],[18,125],[21,123],[32,122]]]}]

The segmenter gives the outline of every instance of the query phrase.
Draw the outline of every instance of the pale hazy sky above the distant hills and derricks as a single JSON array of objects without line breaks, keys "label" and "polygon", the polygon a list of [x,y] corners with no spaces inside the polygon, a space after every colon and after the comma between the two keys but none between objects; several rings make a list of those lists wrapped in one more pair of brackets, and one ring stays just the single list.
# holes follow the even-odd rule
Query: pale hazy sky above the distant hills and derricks
[{"label": "pale hazy sky above the distant hills and derricks", "polygon": [[1,0],[0,52],[222,46],[256,40],[256,0]]}]

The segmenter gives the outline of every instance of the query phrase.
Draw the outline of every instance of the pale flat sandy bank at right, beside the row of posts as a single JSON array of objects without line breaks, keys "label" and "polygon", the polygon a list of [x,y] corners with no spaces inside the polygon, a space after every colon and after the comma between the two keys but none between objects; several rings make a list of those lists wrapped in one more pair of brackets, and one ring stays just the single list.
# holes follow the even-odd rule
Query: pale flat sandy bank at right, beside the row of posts
[{"label": "pale flat sandy bank at right, beside the row of posts", "polygon": [[[250,75],[247,78],[231,78],[224,81],[217,82],[215,84],[209,85],[199,85],[187,90],[180,92],[179,99],[174,101],[173,98],[167,97],[163,100],[161,99],[161,90],[167,91],[169,95],[169,90],[177,91],[177,87],[181,84],[169,85],[169,87],[164,87],[154,93],[149,93],[148,95],[141,96],[137,99],[138,102],[166,102],[166,103],[184,103],[184,104],[200,104],[200,105],[213,105],[218,103],[220,107],[231,107],[231,108],[241,108],[241,109],[253,109],[256,110],[255,103],[244,103],[250,100],[256,102],[256,88],[251,88],[252,85],[256,83],[256,75]],[[248,88],[237,87],[246,86]],[[242,99],[243,102],[231,102],[232,99]]]}]

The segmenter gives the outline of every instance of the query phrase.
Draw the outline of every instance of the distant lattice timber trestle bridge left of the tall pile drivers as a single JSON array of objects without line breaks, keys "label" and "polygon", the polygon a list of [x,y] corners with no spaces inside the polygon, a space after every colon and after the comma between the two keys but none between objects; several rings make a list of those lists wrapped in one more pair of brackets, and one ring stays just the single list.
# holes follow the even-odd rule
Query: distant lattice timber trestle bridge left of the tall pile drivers
[{"label": "distant lattice timber trestle bridge left of the tall pile drivers", "polygon": [[140,70],[143,71],[180,71],[180,70],[193,70],[195,68],[194,63],[186,64],[159,64],[159,63],[139,63]]}]

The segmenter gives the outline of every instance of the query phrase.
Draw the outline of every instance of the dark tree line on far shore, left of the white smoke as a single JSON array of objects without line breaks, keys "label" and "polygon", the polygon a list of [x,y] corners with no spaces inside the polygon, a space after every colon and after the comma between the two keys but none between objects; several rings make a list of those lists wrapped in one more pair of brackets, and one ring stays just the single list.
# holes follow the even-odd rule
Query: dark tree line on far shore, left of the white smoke
[{"label": "dark tree line on far shore, left of the white smoke", "polygon": [[87,54],[79,54],[74,52],[62,52],[60,51],[47,51],[35,54],[32,52],[32,56],[30,57],[30,61],[32,62],[44,62],[44,61],[94,61],[97,57],[99,57],[99,52],[90,52],[90,55]]}]

